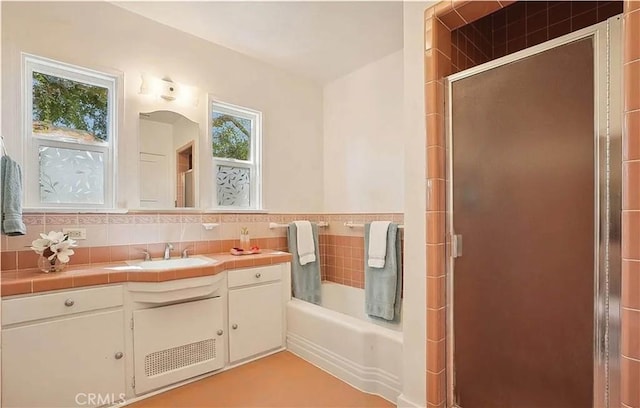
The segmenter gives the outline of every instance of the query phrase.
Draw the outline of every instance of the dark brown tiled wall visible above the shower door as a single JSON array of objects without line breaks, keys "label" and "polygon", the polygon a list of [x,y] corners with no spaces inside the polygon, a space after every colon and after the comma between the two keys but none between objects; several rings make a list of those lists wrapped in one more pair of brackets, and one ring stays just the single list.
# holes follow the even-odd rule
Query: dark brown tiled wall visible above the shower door
[{"label": "dark brown tiled wall visible above the shower door", "polygon": [[622,1],[520,1],[451,32],[458,72],[622,13]]}]

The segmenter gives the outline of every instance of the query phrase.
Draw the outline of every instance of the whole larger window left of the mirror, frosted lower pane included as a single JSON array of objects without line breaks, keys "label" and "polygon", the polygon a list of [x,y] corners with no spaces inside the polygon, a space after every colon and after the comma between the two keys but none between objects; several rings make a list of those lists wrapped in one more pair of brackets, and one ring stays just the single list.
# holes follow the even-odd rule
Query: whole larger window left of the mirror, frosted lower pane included
[{"label": "whole larger window left of the mirror, frosted lower pane included", "polygon": [[116,80],[23,56],[28,207],[112,208]]}]

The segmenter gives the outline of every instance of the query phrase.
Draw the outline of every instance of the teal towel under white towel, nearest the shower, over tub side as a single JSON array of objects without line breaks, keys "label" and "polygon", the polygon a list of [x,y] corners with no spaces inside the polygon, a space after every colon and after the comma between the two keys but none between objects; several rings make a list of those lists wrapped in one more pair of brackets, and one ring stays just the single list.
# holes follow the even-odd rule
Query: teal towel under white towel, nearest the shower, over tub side
[{"label": "teal towel under white towel, nearest the shower, over tub side", "polygon": [[371,268],[369,259],[369,230],[364,226],[364,305],[365,312],[372,317],[400,321],[402,305],[402,271],[400,237],[398,225],[391,223],[387,230],[387,255],[383,268]]}]

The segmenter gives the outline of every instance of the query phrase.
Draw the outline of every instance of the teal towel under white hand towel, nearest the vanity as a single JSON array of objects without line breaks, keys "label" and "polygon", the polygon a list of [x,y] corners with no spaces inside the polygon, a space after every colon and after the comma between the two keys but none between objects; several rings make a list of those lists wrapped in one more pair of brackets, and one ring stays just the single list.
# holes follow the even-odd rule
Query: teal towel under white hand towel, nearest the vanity
[{"label": "teal towel under white hand towel, nearest the vanity", "polygon": [[291,260],[291,286],[293,287],[293,297],[307,302],[320,304],[320,250],[318,245],[318,225],[311,223],[313,230],[313,243],[316,250],[315,262],[300,265],[298,257],[298,243],[296,240],[297,227],[295,223],[289,224],[287,239],[289,240],[289,252],[293,255]]}]

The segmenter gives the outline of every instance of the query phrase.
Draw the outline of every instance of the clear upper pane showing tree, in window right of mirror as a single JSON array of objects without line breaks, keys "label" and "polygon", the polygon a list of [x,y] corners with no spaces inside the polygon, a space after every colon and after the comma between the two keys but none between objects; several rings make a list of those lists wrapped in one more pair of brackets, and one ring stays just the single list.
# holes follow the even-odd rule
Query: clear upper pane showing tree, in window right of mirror
[{"label": "clear upper pane showing tree, in window right of mirror", "polygon": [[212,129],[214,157],[249,160],[251,120],[213,112]]}]

